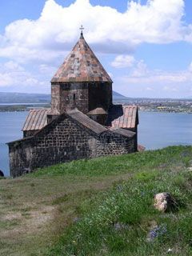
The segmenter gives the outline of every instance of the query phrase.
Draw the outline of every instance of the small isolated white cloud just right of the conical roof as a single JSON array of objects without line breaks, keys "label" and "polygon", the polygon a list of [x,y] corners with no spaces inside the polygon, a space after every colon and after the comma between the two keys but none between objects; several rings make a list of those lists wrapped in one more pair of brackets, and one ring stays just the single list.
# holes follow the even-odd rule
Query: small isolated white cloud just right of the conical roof
[{"label": "small isolated white cloud just right of the conical roof", "polygon": [[125,68],[131,67],[134,65],[135,59],[132,55],[118,55],[113,62],[111,62],[111,66],[116,68]]}]

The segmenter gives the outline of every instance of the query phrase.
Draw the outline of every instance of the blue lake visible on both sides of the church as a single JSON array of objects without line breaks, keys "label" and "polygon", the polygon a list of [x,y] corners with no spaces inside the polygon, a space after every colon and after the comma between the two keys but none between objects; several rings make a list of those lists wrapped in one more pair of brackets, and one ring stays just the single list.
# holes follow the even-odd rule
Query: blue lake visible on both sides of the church
[{"label": "blue lake visible on both sides of the church", "polygon": [[[6,142],[22,138],[28,112],[0,112],[0,170],[9,175]],[[192,114],[139,112],[138,143],[146,150],[192,145]]]}]

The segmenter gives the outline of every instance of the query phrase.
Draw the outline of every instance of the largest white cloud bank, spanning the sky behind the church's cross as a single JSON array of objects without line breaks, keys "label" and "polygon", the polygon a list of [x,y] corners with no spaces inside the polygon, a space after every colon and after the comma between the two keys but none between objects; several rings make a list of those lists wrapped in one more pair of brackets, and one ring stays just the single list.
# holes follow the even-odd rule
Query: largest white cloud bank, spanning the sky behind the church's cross
[{"label": "largest white cloud bank, spanning the sky behind the church's cross", "polygon": [[77,40],[78,27],[86,27],[87,41],[94,49],[129,54],[139,43],[190,41],[192,26],[182,22],[183,0],[148,0],[146,5],[130,1],[125,13],[109,6],[91,6],[76,0],[68,7],[47,0],[37,20],[18,20],[6,26],[0,56],[50,62]]}]

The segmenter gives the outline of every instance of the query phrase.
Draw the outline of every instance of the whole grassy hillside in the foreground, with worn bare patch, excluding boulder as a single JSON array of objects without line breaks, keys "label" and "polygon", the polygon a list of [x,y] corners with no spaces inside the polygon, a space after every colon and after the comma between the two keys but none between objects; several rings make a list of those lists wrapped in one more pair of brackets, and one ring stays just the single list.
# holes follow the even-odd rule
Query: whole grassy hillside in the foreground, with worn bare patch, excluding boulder
[{"label": "whole grassy hillside in the foreground, with worn bare patch, excluding boulder", "polygon": [[[51,166],[0,181],[0,255],[191,255],[192,147]],[[154,210],[155,193],[177,208]]]}]

